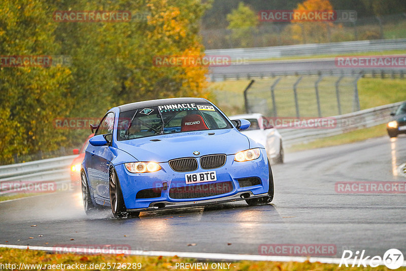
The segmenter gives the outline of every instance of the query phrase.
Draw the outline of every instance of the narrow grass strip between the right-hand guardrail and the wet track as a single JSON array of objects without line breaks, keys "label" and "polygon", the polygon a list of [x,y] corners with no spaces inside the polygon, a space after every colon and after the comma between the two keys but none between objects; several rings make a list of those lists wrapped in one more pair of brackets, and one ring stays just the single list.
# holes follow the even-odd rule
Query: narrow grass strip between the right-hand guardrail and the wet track
[{"label": "narrow grass strip between the right-hand guardrail and the wet track", "polygon": [[310,150],[316,148],[330,147],[343,145],[358,141],[367,140],[370,138],[378,138],[382,136],[387,136],[386,124],[380,124],[374,127],[369,127],[365,129],[360,129],[356,131],[346,132],[343,134],[338,134],[337,136],[327,137],[318,139],[309,143],[293,145],[286,148],[286,152],[295,152],[302,150]]}]

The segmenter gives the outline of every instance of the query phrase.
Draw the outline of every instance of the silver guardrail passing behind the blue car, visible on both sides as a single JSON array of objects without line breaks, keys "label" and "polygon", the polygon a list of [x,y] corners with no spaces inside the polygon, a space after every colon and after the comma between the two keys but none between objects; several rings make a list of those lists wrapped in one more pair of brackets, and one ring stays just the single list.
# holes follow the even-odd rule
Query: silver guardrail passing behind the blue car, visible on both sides
[{"label": "silver guardrail passing behind the blue car, visible on both sides", "polygon": [[[337,127],[332,129],[279,129],[279,132],[282,134],[285,146],[309,142],[315,139],[385,123],[390,119],[389,114],[402,103],[403,102],[399,102],[335,116]],[[35,183],[53,181],[56,184],[69,182],[69,166],[75,157],[76,155],[70,155],[0,166],[0,185],[3,182],[9,181],[30,181]],[[1,191],[0,195],[9,192],[10,191]]]}]

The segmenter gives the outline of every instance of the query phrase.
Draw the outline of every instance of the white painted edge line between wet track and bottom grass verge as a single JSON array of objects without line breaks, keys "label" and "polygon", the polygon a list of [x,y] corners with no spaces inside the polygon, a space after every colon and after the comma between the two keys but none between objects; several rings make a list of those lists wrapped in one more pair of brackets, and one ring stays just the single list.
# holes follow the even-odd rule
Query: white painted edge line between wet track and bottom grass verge
[{"label": "white painted edge line between wet track and bottom grass verge", "polygon": [[[42,247],[42,246],[20,246],[20,245],[3,245],[0,244],[0,248],[14,248],[14,249],[30,249],[30,250],[44,250],[44,251],[52,251],[57,252],[62,251],[63,247]],[[83,249],[83,248],[74,248],[69,247],[72,249]],[[120,254],[120,253],[113,253],[114,250],[111,250],[112,253],[101,253],[101,254]],[[126,255],[137,255],[137,256],[166,256],[166,257],[173,257],[178,256],[180,258],[197,258],[197,259],[212,259],[212,260],[232,260],[232,261],[241,261],[241,260],[248,260],[248,261],[282,261],[282,262],[321,262],[321,263],[331,263],[331,264],[339,264],[341,258],[324,258],[324,257],[300,257],[300,256],[266,256],[266,255],[250,255],[250,254],[227,254],[227,253],[202,253],[202,252],[173,252],[173,251],[145,251],[145,250],[128,250],[125,251]],[[348,263],[352,264],[352,259],[347,261]],[[366,264],[369,264],[369,261],[365,261]],[[376,261],[375,261],[376,263]],[[379,265],[384,265],[383,262],[380,262]],[[403,261],[402,266],[406,266],[406,261]]]}]

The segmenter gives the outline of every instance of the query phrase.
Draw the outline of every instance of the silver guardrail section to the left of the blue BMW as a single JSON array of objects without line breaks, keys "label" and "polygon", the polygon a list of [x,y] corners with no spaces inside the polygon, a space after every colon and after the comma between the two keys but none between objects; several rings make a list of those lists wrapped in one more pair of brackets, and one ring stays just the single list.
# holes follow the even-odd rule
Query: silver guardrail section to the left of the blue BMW
[{"label": "silver guardrail section to the left of the blue BMW", "polygon": [[[58,186],[70,182],[70,165],[77,155],[49,158],[32,162],[0,166],[0,186],[4,183],[42,183],[55,182]],[[6,188],[0,195],[11,193]]]}]

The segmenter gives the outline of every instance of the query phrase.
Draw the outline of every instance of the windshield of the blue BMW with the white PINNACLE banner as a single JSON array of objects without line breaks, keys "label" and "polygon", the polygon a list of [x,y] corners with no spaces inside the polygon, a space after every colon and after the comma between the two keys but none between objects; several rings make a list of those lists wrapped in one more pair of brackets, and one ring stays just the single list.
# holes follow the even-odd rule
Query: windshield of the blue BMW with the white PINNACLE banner
[{"label": "windshield of the blue BMW with the white PINNACLE banner", "polygon": [[121,112],[117,140],[226,128],[232,128],[231,124],[209,103],[161,105]]}]

